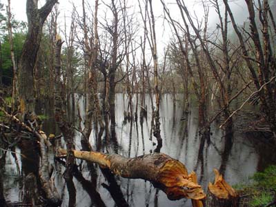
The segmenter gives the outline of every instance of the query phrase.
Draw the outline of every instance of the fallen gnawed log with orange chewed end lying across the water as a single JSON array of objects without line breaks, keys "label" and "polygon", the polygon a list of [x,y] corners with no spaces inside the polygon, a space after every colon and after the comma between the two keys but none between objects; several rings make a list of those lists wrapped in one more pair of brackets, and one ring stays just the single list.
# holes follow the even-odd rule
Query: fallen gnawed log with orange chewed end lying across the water
[{"label": "fallen gnawed log with orange chewed end lying across the water", "polygon": [[[116,175],[130,179],[145,179],[166,193],[168,199],[204,199],[203,189],[195,179],[195,172],[188,175],[180,161],[162,153],[126,158],[121,155],[108,155],[101,152],[72,150],[74,156],[108,168]],[[57,157],[64,157],[67,151],[59,149]]]}]

